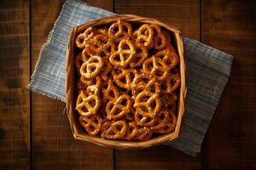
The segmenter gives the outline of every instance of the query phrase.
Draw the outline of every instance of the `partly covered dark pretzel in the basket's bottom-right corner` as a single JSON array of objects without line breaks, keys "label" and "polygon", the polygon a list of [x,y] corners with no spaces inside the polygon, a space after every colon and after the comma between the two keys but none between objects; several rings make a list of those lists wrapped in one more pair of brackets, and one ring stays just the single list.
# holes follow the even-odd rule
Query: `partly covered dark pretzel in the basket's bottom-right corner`
[{"label": "partly covered dark pretzel in the basket's bottom-right corner", "polygon": [[166,122],[164,127],[160,127],[159,129],[154,130],[154,133],[171,133],[175,130],[177,125],[177,116],[173,111],[170,112],[171,120]]}]

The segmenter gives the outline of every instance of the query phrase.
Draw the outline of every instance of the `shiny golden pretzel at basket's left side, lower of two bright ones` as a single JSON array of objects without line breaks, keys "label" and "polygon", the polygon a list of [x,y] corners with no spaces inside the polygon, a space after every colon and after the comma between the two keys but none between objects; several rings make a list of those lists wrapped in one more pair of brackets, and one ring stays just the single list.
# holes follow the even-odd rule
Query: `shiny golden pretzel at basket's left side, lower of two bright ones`
[{"label": "shiny golden pretzel at basket's left side, lower of two bright ones", "polygon": [[100,99],[97,95],[87,96],[84,90],[80,91],[75,109],[81,116],[94,115],[99,107]]}]

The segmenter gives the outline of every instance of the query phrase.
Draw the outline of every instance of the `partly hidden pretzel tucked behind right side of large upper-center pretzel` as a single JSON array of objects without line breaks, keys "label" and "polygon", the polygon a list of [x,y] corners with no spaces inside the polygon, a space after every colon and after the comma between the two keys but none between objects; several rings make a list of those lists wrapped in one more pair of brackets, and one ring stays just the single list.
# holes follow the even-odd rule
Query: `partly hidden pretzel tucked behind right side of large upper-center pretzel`
[{"label": "partly hidden pretzel tucked behind right side of large upper-center pretzel", "polygon": [[131,60],[131,63],[129,64],[131,68],[142,65],[143,61],[148,57],[148,49],[144,46],[136,46],[135,49],[136,54],[134,55],[134,58]]}]

